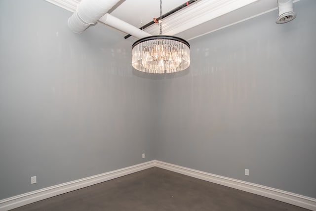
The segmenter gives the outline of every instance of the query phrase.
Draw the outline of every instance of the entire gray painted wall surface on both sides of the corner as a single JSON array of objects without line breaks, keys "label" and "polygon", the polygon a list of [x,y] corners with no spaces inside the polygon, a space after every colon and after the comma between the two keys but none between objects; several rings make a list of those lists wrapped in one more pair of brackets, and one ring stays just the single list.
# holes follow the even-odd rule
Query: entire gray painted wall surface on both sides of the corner
[{"label": "entire gray painted wall surface on both sides of the corner", "polygon": [[16,2],[0,1],[0,199],[153,159],[316,198],[315,0],[190,41],[167,76],[133,71],[115,30]]}]

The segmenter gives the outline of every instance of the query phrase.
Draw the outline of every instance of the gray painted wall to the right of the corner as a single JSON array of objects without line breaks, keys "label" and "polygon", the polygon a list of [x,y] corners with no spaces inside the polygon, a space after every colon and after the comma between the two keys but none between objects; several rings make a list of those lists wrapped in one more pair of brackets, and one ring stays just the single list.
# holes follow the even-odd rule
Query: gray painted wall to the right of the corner
[{"label": "gray painted wall to the right of the corner", "polygon": [[316,198],[315,8],[190,41],[189,74],[157,84],[157,159]]}]

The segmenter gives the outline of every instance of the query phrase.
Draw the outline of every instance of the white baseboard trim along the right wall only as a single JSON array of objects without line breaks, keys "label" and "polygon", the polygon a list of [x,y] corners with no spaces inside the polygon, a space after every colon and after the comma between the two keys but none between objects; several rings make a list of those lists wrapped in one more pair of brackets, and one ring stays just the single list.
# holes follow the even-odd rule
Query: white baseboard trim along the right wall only
[{"label": "white baseboard trim along the right wall only", "polygon": [[202,179],[205,181],[213,182],[216,184],[224,185],[227,187],[235,188],[238,190],[243,190],[249,193],[254,193],[260,196],[268,197],[271,199],[275,199],[281,202],[285,202],[288,204],[292,204],[295,206],[299,206],[302,208],[306,208],[312,211],[316,211],[316,199],[306,197],[299,194],[294,194],[291,192],[258,185],[250,182],[245,182],[237,179],[232,179],[216,174],[211,174],[195,169],[189,169],[173,164],[168,164],[161,161],[155,161],[155,166],[161,169],[171,170],[177,173],[181,173],[184,175],[192,176],[198,179]]}]

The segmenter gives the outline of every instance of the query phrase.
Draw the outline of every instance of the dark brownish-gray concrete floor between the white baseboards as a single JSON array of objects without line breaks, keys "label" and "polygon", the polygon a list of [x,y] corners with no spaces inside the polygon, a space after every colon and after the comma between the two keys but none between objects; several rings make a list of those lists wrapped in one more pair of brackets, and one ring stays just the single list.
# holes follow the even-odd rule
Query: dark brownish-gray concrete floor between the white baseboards
[{"label": "dark brownish-gray concrete floor between the white baseboards", "polygon": [[151,168],[14,211],[306,211],[266,197]]}]

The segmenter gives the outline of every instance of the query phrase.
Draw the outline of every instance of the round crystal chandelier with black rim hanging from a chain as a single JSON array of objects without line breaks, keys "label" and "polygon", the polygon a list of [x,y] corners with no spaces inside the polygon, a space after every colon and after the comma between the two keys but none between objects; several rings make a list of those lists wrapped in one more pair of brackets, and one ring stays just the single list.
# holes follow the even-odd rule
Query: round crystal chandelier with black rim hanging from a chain
[{"label": "round crystal chandelier with black rim hanging from a chain", "polygon": [[190,44],[182,38],[160,34],[142,38],[132,45],[132,66],[146,73],[175,73],[190,66]]}]

